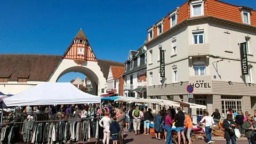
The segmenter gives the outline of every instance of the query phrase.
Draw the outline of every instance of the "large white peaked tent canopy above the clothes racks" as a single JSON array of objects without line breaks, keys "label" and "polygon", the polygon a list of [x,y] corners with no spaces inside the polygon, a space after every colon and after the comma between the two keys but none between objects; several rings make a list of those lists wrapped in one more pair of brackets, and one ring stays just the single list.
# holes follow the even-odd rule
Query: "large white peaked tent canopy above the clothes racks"
[{"label": "large white peaked tent canopy above the clothes racks", "polygon": [[4,99],[7,107],[100,103],[100,101],[99,96],[84,93],[71,83],[50,82],[40,83],[29,90]]}]

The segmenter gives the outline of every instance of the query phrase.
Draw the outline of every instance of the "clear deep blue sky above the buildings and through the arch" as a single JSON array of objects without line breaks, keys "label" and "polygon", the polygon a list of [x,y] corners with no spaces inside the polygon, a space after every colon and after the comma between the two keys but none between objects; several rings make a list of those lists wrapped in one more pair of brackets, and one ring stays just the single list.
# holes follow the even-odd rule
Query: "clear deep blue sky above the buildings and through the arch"
[{"label": "clear deep blue sky above the buildings and through the arch", "polygon": [[[0,53],[62,55],[82,28],[98,59],[124,62],[147,28],[186,1],[2,1]],[[255,0],[222,1],[256,9]],[[69,73],[59,82],[77,76],[85,77]]]}]

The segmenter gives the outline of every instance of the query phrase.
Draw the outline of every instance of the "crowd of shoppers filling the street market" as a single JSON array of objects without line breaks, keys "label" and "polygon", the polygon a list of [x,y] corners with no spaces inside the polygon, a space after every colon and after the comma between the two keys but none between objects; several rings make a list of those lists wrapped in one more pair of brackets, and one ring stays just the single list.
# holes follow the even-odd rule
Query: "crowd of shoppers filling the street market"
[{"label": "crowd of shoppers filling the street market", "polygon": [[[18,108],[19,109],[19,108]],[[134,132],[135,136],[140,134],[149,135],[150,134],[150,122],[154,123],[154,131],[156,140],[165,140],[165,143],[172,143],[172,126],[175,123],[175,131],[178,134],[178,143],[181,141],[186,143],[186,138],[188,143],[191,144],[190,133],[193,128],[193,123],[191,117],[183,110],[183,108],[178,107],[174,109],[169,107],[166,109],[163,107],[161,111],[157,114],[153,114],[152,110],[144,109],[139,106],[126,105],[126,103],[107,103],[101,108],[98,104],[94,105],[61,105],[60,108],[56,106],[34,106],[34,107],[24,107],[21,109],[24,113],[38,113],[39,111],[45,111],[46,113],[54,114],[61,113],[62,119],[68,119],[67,114],[77,114],[81,118],[94,118],[98,116],[103,116],[99,124],[103,127],[104,139],[103,143],[109,143],[112,137],[113,143],[123,143],[123,130],[128,129],[129,132]],[[249,144],[256,143],[256,110],[254,115],[250,115],[248,111],[245,115],[242,111],[237,110],[234,114],[233,110],[230,108],[227,111],[226,119],[223,120],[221,129],[225,131],[224,138],[227,144],[236,143],[236,136],[234,129],[238,127],[239,132],[242,137],[248,139]],[[199,122],[204,123],[205,133],[208,142],[214,143],[211,139],[212,126],[219,125],[221,115],[218,109],[215,109],[214,113],[209,116],[209,113],[205,111],[204,117]],[[187,131],[185,137],[185,130]]]}]

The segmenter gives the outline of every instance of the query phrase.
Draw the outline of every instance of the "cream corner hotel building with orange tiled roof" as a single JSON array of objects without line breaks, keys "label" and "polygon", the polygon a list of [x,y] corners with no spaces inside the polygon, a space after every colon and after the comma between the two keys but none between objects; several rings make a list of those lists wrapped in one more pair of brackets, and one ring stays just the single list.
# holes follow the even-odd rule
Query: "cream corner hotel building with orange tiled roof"
[{"label": "cream corner hotel building with orange tiled roof", "polygon": [[[231,7],[230,14],[238,15],[236,20],[240,23],[227,17],[215,18],[206,4]],[[189,13],[187,7],[191,8]],[[211,10],[218,11],[214,9]],[[206,10],[212,15],[206,15]],[[252,113],[256,108],[256,23],[251,25],[252,15],[251,19],[245,17],[245,12],[255,13],[248,7],[213,0],[188,1],[150,27],[146,43],[148,97],[188,102],[186,88],[193,85],[194,98],[190,102],[207,106],[205,110],[193,109],[193,115],[219,109],[224,118],[228,108]],[[249,75],[245,76],[241,72],[241,43],[247,46]],[[164,78],[159,50],[165,54]]]}]

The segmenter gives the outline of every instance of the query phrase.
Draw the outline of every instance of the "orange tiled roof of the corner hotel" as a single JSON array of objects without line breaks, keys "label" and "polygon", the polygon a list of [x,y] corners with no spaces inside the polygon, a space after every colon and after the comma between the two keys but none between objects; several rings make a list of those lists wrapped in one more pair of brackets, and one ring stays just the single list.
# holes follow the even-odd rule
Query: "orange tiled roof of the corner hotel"
[{"label": "orange tiled roof of the corner hotel", "polygon": [[[178,8],[178,14],[177,14],[177,25],[179,23],[182,23],[185,20],[188,19],[196,19],[196,18],[204,18],[204,17],[214,17],[222,20],[227,20],[231,22],[237,22],[244,24],[242,21],[242,16],[241,16],[241,10],[239,7],[242,6],[237,6],[237,5],[232,5],[228,4],[225,2],[221,2],[218,0],[205,0],[204,2],[204,15],[201,17],[191,17],[190,18],[190,4],[189,2],[186,2],[182,4]],[[251,25],[253,27],[256,27],[256,11],[252,10],[249,7],[246,7],[246,9],[251,10]],[[163,18],[164,19],[164,26],[163,26],[163,33],[168,31],[170,29],[170,18],[169,14]],[[157,37],[157,23],[155,23],[154,27],[154,37]],[[246,25],[246,24],[244,24]],[[151,27],[150,27],[151,28]],[[147,35],[147,41],[148,41],[148,35]]]}]

